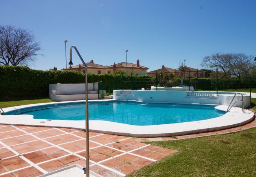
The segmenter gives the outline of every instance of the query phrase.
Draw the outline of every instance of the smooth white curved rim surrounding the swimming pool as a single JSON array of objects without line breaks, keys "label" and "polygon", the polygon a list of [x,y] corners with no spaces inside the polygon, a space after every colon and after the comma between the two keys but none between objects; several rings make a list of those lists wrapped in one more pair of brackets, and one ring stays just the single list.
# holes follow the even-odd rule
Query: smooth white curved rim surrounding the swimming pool
[{"label": "smooth white curved rim surrounding the swimming pool", "polygon": [[[74,103],[81,101],[63,101],[52,103],[39,103],[32,105],[22,105],[16,107],[4,108],[4,112],[13,111],[25,107],[33,107],[39,105],[56,104],[56,103]],[[99,101],[99,100],[89,100]],[[100,100],[100,101],[112,101],[112,100]],[[219,105],[215,109],[220,111],[226,111],[227,106]],[[105,112],[107,114],[107,112]],[[90,110],[89,110],[90,116]],[[200,120],[194,122],[184,122],[176,124],[163,124],[163,125],[128,125],[117,122],[90,120],[89,131],[98,133],[107,133],[113,135],[130,135],[134,137],[160,137],[160,136],[176,136],[186,135],[191,133],[203,133],[208,131],[217,131],[221,129],[227,129],[237,127],[243,124],[247,124],[254,119],[254,112],[245,110],[241,111],[241,108],[232,107],[230,112],[227,112],[223,116],[217,118],[211,118],[208,120]],[[83,120],[46,120],[46,119],[33,119],[32,115],[0,115],[0,124],[7,125],[32,125],[32,126],[44,126],[44,127],[63,127],[72,129],[85,129],[85,121]]]}]

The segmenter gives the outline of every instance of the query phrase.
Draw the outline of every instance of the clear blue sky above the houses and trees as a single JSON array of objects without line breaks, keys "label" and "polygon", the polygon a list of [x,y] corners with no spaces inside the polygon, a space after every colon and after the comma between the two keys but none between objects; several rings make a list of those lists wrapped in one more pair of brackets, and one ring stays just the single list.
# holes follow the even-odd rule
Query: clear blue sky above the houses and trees
[{"label": "clear blue sky above the houses and trees", "polygon": [[[100,65],[140,60],[201,68],[215,52],[256,54],[256,0],[1,0],[1,25],[32,30],[45,56],[31,68],[65,67],[75,45],[85,62]],[[81,63],[74,54],[74,65]]]}]

